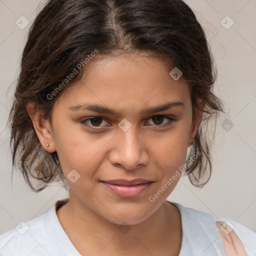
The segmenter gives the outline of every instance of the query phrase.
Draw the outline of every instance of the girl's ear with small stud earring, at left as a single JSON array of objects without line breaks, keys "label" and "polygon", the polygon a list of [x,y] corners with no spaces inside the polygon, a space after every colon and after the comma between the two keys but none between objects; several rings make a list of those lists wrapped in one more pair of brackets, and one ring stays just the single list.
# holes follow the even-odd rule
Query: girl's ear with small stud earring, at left
[{"label": "girl's ear with small stud earring, at left", "polygon": [[[56,151],[49,120],[42,117],[41,112],[35,109],[34,103],[27,103],[26,111],[32,120],[34,130],[43,149],[48,152]],[[47,144],[49,146],[46,146]]]}]

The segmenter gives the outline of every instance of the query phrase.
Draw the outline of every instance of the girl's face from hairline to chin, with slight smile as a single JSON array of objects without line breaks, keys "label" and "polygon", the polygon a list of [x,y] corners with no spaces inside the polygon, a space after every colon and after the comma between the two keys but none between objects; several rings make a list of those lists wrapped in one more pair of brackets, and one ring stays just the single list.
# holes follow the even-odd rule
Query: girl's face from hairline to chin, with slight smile
[{"label": "girl's face from hairline to chin, with slight smile", "polygon": [[199,124],[193,128],[190,89],[146,56],[105,57],[86,68],[54,104],[51,149],[70,200],[111,222],[139,223],[180,177],[169,180]]}]

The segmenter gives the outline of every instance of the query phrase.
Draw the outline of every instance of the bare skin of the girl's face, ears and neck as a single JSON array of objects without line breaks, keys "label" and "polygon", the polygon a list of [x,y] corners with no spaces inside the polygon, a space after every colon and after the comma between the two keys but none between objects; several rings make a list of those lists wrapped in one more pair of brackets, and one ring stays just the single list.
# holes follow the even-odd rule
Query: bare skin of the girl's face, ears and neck
[{"label": "bare skin of the girl's face, ears and neck", "polygon": [[[179,253],[180,213],[165,201],[179,177],[153,202],[149,196],[185,162],[202,112],[196,110],[192,119],[188,84],[182,77],[174,80],[170,70],[161,59],[142,54],[106,56],[88,63],[81,80],[65,88],[53,106],[51,123],[32,104],[27,105],[42,147],[57,151],[65,177],[72,169],[80,175],[74,183],[66,178],[69,201],[56,213],[82,255]],[[139,113],[170,101],[181,101],[184,107]],[[69,108],[83,103],[102,104],[119,114]],[[161,126],[168,119],[157,121],[154,115],[168,115],[176,121]],[[104,118],[97,121],[101,128],[90,120],[86,123],[91,128],[80,122],[93,116]],[[126,131],[118,126],[123,118],[131,123]],[[117,196],[99,182],[120,178],[154,182],[135,197]],[[125,233],[120,231],[123,221],[130,227]]]}]

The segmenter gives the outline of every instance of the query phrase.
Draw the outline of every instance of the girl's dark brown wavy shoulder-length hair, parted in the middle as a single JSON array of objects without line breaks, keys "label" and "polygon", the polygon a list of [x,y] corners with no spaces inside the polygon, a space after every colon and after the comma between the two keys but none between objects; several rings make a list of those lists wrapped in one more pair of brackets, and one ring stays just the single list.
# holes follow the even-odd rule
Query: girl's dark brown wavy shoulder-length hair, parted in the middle
[{"label": "girl's dark brown wavy shoulder-length hair, parted in the middle", "polygon": [[[205,184],[211,173],[206,127],[212,117],[216,127],[223,105],[212,91],[216,70],[210,47],[190,7],[182,0],[49,0],[30,27],[9,116],[12,163],[21,170],[30,188],[38,192],[52,181],[62,180],[65,187],[67,183],[57,152],[42,148],[25,106],[33,102],[43,117],[50,119],[54,102],[79,80],[82,69],[65,86],[59,84],[63,85],[66,76],[95,49],[95,59],[148,52],[169,60],[169,71],[173,67],[182,71],[182,78],[191,88],[193,111],[199,108],[198,98],[205,100],[188,157],[197,151],[201,154],[186,170],[193,185]],[[49,99],[57,87],[61,90]]]}]

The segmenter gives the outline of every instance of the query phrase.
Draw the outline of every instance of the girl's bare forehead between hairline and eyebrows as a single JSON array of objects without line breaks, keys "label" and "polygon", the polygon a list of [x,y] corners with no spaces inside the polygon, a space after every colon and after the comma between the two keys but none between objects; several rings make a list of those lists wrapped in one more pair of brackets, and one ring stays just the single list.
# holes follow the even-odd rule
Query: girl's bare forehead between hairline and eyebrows
[{"label": "girl's bare forehead between hairline and eyebrows", "polygon": [[171,67],[159,58],[141,55],[106,56],[85,66],[81,79],[60,96],[69,105],[88,103],[141,107],[159,102],[187,101],[190,89],[180,77],[174,80]]}]

